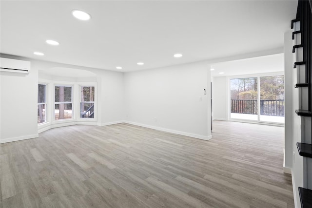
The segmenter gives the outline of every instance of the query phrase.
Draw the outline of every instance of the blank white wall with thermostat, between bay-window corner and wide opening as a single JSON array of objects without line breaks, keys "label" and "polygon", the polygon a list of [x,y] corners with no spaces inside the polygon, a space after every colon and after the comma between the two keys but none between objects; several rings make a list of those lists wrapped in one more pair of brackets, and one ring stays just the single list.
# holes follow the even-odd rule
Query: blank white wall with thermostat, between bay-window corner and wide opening
[{"label": "blank white wall with thermostat, between bay-window corner and wide opening", "polygon": [[128,122],[201,139],[211,138],[207,64],[197,62],[125,73],[124,83]]}]

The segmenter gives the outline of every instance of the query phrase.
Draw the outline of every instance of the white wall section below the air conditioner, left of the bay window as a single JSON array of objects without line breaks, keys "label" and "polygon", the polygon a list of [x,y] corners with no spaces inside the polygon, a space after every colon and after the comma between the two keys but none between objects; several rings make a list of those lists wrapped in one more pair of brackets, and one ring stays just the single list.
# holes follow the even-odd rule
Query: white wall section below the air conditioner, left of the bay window
[{"label": "white wall section below the air conditioner, left of the bay window", "polygon": [[29,74],[0,72],[0,83],[0,142],[38,137],[36,64]]}]

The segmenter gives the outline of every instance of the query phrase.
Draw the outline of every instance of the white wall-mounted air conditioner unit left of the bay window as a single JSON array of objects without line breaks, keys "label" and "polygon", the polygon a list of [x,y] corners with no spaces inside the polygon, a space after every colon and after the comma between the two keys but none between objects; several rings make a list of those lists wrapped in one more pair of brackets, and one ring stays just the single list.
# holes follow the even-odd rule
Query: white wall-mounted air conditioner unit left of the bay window
[{"label": "white wall-mounted air conditioner unit left of the bay window", "polygon": [[17,73],[29,73],[30,61],[22,61],[11,58],[0,57],[0,71],[1,72],[17,72]]}]

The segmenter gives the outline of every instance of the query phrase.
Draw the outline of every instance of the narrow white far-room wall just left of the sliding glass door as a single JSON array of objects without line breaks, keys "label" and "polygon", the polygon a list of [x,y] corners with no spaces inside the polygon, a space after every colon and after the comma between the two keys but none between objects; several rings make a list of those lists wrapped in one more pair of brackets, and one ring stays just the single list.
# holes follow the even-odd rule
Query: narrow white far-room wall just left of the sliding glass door
[{"label": "narrow white far-room wall just left of the sliding glass door", "polygon": [[213,119],[228,120],[228,87],[226,76],[213,78]]}]

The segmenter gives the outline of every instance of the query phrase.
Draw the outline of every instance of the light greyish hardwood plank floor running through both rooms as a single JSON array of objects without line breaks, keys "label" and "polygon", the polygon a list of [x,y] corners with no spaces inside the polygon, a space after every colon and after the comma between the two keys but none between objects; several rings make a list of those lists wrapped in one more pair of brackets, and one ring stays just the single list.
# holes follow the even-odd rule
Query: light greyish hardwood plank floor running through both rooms
[{"label": "light greyish hardwood plank floor running through both rooms", "polygon": [[281,127],[214,121],[213,139],[129,124],[1,144],[1,208],[293,208]]}]

